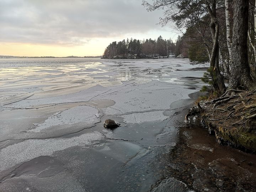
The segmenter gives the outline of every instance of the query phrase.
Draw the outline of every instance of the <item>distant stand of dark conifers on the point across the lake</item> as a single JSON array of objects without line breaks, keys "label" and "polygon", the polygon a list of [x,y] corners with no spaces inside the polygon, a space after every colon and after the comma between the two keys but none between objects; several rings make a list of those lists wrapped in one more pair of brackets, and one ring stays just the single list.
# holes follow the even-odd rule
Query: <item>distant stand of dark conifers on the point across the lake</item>
[{"label": "distant stand of dark conifers on the point across the lake", "polygon": [[[181,39],[179,36],[178,39]],[[110,43],[105,49],[102,58],[103,59],[114,59],[114,58],[134,58],[137,54],[138,58],[154,58],[154,57],[169,57],[169,55],[179,55],[182,52],[182,48],[178,45],[182,43],[177,41],[174,43],[171,39],[163,39],[159,36],[157,39],[125,39],[119,42]],[[187,55],[184,55],[185,57]]]}]

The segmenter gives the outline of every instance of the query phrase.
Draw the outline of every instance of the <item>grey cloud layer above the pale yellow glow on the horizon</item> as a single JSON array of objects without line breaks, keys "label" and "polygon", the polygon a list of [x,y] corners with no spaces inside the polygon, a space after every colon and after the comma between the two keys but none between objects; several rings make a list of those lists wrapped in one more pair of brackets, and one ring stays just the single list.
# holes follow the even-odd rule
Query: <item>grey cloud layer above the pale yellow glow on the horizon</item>
[{"label": "grey cloud layer above the pale yellow glow on the horizon", "polygon": [[142,0],[1,0],[0,42],[81,45],[161,30]]}]

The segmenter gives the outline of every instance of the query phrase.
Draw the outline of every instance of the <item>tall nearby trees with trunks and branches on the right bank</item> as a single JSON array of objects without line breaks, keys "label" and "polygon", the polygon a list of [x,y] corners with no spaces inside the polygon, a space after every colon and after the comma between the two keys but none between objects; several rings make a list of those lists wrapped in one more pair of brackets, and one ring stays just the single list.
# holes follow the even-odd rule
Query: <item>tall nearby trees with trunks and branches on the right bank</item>
[{"label": "tall nearby trees with trunks and branches on the right bank", "polygon": [[219,96],[256,86],[255,0],[143,0],[148,11],[164,10],[160,23],[175,22],[192,62],[209,62],[204,79]]}]

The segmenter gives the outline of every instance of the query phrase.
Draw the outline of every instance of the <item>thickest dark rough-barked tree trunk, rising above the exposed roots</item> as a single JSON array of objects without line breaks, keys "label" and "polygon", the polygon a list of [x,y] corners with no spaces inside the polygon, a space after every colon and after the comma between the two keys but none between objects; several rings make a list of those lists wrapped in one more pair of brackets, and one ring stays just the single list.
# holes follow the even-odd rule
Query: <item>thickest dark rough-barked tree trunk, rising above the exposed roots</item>
[{"label": "thickest dark rough-barked tree trunk, rising above the exposed roots", "polygon": [[248,90],[255,86],[247,52],[249,0],[234,0],[234,26],[229,89]]}]

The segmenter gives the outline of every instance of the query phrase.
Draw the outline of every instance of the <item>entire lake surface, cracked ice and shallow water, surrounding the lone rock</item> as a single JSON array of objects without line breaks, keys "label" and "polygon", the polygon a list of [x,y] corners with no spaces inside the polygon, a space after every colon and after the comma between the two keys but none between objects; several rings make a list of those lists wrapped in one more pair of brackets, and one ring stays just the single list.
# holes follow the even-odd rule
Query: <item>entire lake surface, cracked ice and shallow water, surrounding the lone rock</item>
[{"label": "entire lake surface, cracked ice and shallow water, surrounding the lone rock", "polygon": [[[254,155],[183,122],[206,66],[174,58],[9,59],[0,66],[2,191],[218,191],[213,178],[222,178],[204,175],[241,159],[239,181],[255,176]],[[121,127],[103,128],[107,118]]]}]

